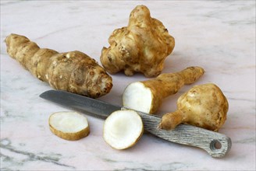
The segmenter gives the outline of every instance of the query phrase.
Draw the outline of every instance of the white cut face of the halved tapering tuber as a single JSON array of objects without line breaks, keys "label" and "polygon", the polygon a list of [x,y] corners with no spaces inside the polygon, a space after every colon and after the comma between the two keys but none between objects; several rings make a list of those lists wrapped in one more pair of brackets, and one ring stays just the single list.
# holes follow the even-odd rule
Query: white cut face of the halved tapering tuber
[{"label": "white cut face of the halved tapering tuber", "polygon": [[123,92],[123,106],[144,113],[150,113],[152,99],[151,89],[142,82],[131,83]]}]

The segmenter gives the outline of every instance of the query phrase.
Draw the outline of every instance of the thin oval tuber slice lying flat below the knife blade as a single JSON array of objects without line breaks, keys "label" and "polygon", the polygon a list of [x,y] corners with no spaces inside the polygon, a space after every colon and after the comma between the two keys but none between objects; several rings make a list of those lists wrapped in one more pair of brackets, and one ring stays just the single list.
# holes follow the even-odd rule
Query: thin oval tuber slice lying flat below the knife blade
[{"label": "thin oval tuber slice lying flat below the knife blade", "polygon": [[66,140],[79,140],[90,133],[87,118],[76,112],[56,112],[49,117],[53,134]]}]

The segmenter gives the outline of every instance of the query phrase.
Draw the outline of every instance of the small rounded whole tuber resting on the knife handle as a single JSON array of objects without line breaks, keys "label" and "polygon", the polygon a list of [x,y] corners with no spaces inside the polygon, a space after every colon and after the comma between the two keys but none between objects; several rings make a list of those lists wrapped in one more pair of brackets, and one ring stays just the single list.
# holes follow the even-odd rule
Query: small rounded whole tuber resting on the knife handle
[{"label": "small rounded whole tuber resting on the knife handle", "polygon": [[194,86],[177,101],[177,110],[162,117],[159,128],[172,130],[178,124],[190,124],[219,131],[226,121],[229,103],[221,89],[212,83]]}]

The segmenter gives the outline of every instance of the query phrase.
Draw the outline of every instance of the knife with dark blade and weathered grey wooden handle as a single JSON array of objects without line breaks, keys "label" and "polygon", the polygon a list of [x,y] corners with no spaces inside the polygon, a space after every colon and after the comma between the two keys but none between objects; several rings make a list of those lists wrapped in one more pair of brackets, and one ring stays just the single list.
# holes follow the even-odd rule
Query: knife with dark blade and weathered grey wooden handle
[{"label": "knife with dark blade and weathered grey wooden handle", "polygon": [[[41,93],[40,97],[53,103],[58,103],[61,106],[68,107],[69,109],[101,119],[106,119],[116,110],[126,110],[126,108],[122,106],[62,90],[48,90]],[[143,120],[144,130],[167,141],[202,148],[215,158],[224,157],[231,148],[231,139],[225,134],[208,131],[189,124],[180,124],[171,131],[162,130],[157,128],[161,117],[140,111],[137,111],[137,113],[140,114]]]}]

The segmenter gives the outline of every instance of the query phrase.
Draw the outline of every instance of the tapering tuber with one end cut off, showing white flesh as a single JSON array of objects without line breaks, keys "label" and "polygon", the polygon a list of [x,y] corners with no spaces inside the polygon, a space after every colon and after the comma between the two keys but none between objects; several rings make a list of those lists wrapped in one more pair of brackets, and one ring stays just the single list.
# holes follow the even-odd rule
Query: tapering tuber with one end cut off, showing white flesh
[{"label": "tapering tuber with one end cut off, showing white flesh", "polygon": [[178,92],[204,74],[200,67],[189,67],[181,72],[158,75],[155,79],[133,82],[123,92],[123,106],[145,113],[155,113],[162,99]]}]

